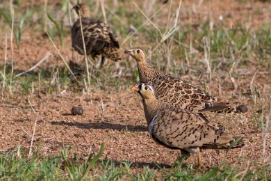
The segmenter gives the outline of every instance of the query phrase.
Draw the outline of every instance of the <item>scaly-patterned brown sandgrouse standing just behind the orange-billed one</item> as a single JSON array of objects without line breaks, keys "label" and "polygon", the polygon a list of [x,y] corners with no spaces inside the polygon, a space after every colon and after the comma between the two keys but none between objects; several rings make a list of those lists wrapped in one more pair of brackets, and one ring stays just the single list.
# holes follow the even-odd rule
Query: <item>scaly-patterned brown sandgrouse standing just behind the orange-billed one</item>
[{"label": "scaly-patterned brown sandgrouse standing just behind the orange-billed one", "polygon": [[187,81],[156,71],[145,60],[145,53],[142,49],[134,47],[126,49],[124,53],[129,54],[136,60],[140,82],[152,86],[156,98],[167,106],[199,113],[202,117],[204,116],[201,112],[229,107],[224,102],[216,103],[215,97],[191,86]]}]

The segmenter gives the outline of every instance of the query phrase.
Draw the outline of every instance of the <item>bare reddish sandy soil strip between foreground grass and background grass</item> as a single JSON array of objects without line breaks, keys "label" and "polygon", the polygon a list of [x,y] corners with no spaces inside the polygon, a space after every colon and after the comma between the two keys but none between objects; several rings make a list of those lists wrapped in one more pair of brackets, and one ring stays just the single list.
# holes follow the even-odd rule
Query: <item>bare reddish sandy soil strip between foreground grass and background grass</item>
[{"label": "bare reddish sandy soil strip between foreground grass and background grass", "polygon": [[[231,91],[229,91],[231,93]],[[231,97],[226,95],[224,97]],[[1,151],[17,146],[29,148],[33,125],[37,120],[34,148],[42,155],[57,155],[61,148],[74,147],[79,155],[88,155],[90,148],[97,151],[104,142],[104,157],[116,162],[130,160],[148,165],[156,162],[170,166],[178,157],[178,150],[169,150],[157,145],[147,133],[140,97],[129,88],[110,94],[93,91],[90,95],[74,95],[69,91],[60,95],[33,95],[29,97],[4,95],[0,101]],[[104,109],[101,108],[101,100]],[[250,159],[263,163],[263,139],[261,109],[241,96],[229,98],[231,102],[247,104],[248,113],[230,115],[211,114],[211,123],[222,123],[228,132],[245,137],[244,148],[224,151],[204,150],[202,157],[209,166],[222,164],[222,160],[238,165],[253,165]],[[270,97],[269,97],[270,101]],[[264,102],[263,99],[258,102]],[[81,105],[83,116],[72,116],[74,105]],[[271,160],[270,131],[265,145],[265,164]],[[193,162],[191,157],[188,162]]]}]

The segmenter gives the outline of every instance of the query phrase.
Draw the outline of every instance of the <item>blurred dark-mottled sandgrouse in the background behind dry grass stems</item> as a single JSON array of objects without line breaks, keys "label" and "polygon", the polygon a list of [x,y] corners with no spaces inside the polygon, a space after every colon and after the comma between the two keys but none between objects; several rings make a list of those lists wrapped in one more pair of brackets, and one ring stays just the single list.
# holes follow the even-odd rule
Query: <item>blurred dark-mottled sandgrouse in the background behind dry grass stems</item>
[{"label": "blurred dark-mottled sandgrouse in the background behind dry grass stems", "polygon": [[[121,60],[119,54],[120,45],[113,36],[110,27],[99,19],[92,19],[90,17],[90,8],[84,3],[76,4],[73,9],[81,17],[85,53],[91,55],[92,58],[101,55],[101,64],[104,62],[104,57],[113,61]],[[72,26],[72,47],[76,52],[84,55],[80,18]]]}]

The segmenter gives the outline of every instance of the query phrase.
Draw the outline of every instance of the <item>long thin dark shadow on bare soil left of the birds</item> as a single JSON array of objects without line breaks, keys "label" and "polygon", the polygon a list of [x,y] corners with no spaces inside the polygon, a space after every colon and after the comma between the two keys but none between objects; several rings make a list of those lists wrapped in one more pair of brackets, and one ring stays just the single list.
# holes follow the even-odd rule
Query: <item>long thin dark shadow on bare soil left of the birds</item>
[{"label": "long thin dark shadow on bare soil left of the birds", "polygon": [[67,125],[70,127],[78,127],[80,129],[114,129],[118,131],[128,130],[130,132],[147,132],[147,127],[136,125],[120,125],[113,123],[78,123],[78,122],[51,122],[52,125]]}]

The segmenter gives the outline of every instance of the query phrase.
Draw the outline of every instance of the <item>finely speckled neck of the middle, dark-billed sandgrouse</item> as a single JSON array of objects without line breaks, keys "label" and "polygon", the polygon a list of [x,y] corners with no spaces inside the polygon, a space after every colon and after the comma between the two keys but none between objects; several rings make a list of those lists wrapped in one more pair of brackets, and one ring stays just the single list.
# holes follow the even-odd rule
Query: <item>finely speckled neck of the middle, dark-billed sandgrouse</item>
[{"label": "finely speckled neck of the middle, dark-billed sandgrouse", "polygon": [[139,73],[139,78],[140,82],[148,82],[151,81],[158,72],[154,68],[149,65],[145,60],[140,60],[138,61],[138,73]]}]

